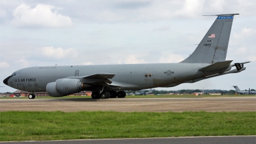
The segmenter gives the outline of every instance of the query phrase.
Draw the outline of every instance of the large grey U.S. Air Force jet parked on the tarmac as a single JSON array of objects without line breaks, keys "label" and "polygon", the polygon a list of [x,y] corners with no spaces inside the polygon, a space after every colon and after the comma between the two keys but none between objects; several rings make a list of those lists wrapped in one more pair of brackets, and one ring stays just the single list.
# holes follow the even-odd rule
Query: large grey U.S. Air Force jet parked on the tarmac
[{"label": "large grey U.S. Air Force jet parked on the tarmac", "polygon": [[239,13],[207,15],[217,19],[195,51],[179,63],[29,67],[13,72],[3,83],[28,91],[29,99],[45,91],[52,97],[92,91],[92,99],[108,99],[124,98],[124,90],[172,87],[242,72],[244,63],[226,60],[234,15]]}]

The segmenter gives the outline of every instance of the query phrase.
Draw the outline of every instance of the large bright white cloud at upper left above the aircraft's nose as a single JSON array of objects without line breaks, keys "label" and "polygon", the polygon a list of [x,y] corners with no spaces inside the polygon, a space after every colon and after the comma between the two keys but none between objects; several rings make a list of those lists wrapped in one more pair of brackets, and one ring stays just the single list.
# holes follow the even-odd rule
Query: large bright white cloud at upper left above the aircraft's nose
[{"label": "large bright white cloud at upper left above the aircraft's nose", "polygon": [[72,26],[70,17],[61,15],[58,10],[61,10],[61,8],[49,4],[37,4],[35,8],[20,4],[13,11],[14,19],[12,24],[17,27],[34,26],[46,28]]}]

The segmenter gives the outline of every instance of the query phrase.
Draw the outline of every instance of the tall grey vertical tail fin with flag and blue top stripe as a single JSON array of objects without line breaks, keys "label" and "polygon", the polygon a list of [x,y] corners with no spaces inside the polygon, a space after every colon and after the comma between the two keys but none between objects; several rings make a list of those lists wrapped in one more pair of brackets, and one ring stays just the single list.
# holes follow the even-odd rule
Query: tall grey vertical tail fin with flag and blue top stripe
[{"label": "tall grey vertical tail fin with flag and blue top stripe", "polygon": [[239,15],[239,13],[216,15],[218,16],[217,19],[195,51],[180,63],[216,63],[225,61],[234,15]]}]

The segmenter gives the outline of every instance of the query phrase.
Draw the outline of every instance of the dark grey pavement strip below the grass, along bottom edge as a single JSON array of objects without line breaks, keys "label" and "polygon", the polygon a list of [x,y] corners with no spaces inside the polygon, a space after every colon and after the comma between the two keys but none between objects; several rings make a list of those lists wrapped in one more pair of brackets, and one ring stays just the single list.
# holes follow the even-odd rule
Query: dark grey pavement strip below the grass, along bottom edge
[{"label": "dark grey pavement strip below the grass, along bottom edge", "polygon": [[67,140],[67,141],[17,141],[5,142],[13,144],[255,144],[256,136],[214,136],[214,137],[188,137],[188,138],[138,138],[138,139],[113,139],[113,140]]}]

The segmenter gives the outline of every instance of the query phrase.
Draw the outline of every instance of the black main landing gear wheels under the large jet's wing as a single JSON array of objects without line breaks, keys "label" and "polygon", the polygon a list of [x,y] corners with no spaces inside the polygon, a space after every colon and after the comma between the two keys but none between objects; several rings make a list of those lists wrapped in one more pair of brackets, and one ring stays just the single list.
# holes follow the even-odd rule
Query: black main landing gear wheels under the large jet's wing
[{"label": "black main landing gear wheels under the large jet's wing", "polygon": [[109,99],[109,98],[124,98],[126,96],[126,93],[124,91],[103,91],[100,92],[93,92],[92,93],[92,99]]}]

